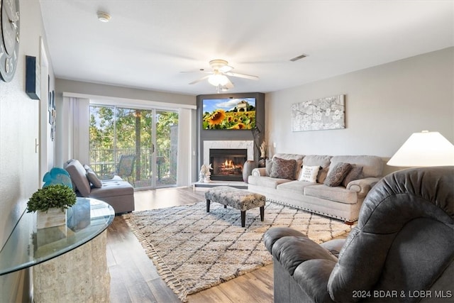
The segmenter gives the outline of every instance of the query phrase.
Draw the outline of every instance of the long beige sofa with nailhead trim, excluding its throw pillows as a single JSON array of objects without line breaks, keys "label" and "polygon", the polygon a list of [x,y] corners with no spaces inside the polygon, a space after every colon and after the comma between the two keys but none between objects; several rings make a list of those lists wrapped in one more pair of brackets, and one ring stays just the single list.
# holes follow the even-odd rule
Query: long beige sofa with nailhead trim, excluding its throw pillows
[{"label": "long beige sofa with nailhead trim, excluding its throw pillows", "polygon": [[[295,160],[292,178],[270,177],[267,168],[255,168],[248,177],[248,190],[265,195],[267,200],[353,224],[358,220],[362,201],[382,176],[384,161],[373,155],[297,155],[277,153],[275,158]],[[362,167],[362,174],[345,186],[323,184],[328,172],[339,163]],[[267,165],[270,162],[267,161]],[[301,167],[319,166],[316,182],[299,181]]]}]

